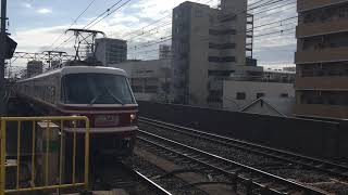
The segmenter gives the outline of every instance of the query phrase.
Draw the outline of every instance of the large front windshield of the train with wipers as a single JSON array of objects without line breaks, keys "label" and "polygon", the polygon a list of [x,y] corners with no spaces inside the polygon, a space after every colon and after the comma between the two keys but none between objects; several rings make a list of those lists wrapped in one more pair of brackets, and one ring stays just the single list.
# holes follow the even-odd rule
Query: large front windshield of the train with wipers
[{"label": "large front windshield of the train with wipers", "polygon": [[72,74],[63,77],[66,104],[135,104],[127,78],[108,74]]}]

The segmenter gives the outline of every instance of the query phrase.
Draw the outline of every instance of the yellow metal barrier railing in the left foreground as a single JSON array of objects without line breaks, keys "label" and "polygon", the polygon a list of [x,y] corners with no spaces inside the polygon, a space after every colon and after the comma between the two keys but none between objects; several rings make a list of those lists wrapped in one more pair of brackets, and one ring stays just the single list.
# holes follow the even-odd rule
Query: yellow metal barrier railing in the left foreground
[{"label": "yellow metal barrier railing in the left foreground", "polygon": [[[4,195],[7,193],[17,193],[17,192],[29,192],[29,191],[46,191],[46,190],[59,190],[59,188],[67,188],[67,187],[76,187],[76,186],[84,186],[86,190],[88,187],[88,171],[89,171],[89,120],[87,117],[84,116],[70,116],[70,117],[1,117],[0,118],[1,128],[0,128],[0,195]],[[14,188],[7,188],[7,130],[9,122],[16,122],[16,165],[14,166],[16,168],[16,182]],[[24,122],[32,122],[32,150],[30,150],[30,159],[32,162],[32,172],[30,172],[30,183],[32,186],[29,187],[22,187],[20,185],[20,173],[21,173],[21,131],[23,131],[22,125]],[[44,186],[36,186],[34,185],[36,181],[36,173],[35,173],[35,165],[36,165],[36,136],[37,136],[37,122],[46,122],[47,128],[46,130],[46,145],[45,145],[45,185]],[[48,172],[49,172],[49,147],[50,147],[50,140],[49,140],[49,133],[50,133],[50,123],[58,123],[57,126],[60,128],[61,136],[60,136],[60,153],[59,153],[59,182],[55,184],[49,184],[48,180]],[[75,174],[76,174],[76,131],[73,130],[73,165],[72,165],[72,183],[63,183],[63,141],[64,141],[64,126],[66,126],[66,122],[70,122],[70,125],[73,126],[73,128],[76,128],[76,123],[84,122],[84,128],[86,128],[85,135],[84,135],[84,147],[85,147],[85,154],[84,154],[84,161],[85,161],[85,168],[84,168],[84,177],[82,182],[76,182]],[[80,127],[79,127],[80,128]],[[12,129],[10,129],[12,130]],[[8,130],[9,131],[9,130]],[[42,131],[44,132],[44,131]],[[22,132],[23,133],[23,132]],[[27,139],[27,138],[26,138]],[[44,141],[44,140],[42,140]],[[44,166],[44,165],[42,165]]]}]

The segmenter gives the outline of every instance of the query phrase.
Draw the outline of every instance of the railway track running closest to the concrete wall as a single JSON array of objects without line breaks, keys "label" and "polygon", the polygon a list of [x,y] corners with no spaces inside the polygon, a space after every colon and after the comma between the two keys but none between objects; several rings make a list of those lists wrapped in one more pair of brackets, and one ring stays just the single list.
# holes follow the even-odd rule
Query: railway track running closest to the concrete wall
[{"label": "railway track running closest to the concrete wall", "polygon": [[299,165],[307,167],[312,170],[319,170],[322,172],[326,172],[336,177],[348,178],[348,167],[345,165],[339,165],[335,162],[331,162],[323,159],[312,158],[282,150],[276,150],[254,143],[249,143],[236,139],[231,139],[217,134],[212,134],[203,131],[198,131],[191,128],[185,128],[181,126],[175,126],[172,123],[166,123],[163,121],[158,121],[149,118],[140,117],[140,122],[162,128],[165,130],[174,131],[177,133],[186,134],[192,138],[199,138],[212,143],[221,144],[227,147],[238,148],[246,151],[248,153],[253,153],[257,155],[266,156],[273,159]]}]

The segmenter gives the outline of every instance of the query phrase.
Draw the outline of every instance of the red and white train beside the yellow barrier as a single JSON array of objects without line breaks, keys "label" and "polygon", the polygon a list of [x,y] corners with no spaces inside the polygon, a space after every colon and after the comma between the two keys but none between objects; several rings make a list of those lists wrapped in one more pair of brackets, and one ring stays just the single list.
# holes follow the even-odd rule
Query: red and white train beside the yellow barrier
[{"label": "red and white train beside the yellow barrier", "polygon": [[[138,130],[138,104],[124,70],[65,66],[17,81],[16,92],[42,115],[87,116],[91,152],[122,157],[132,154]],[[75,131],[83,132],[84,128]]]}]

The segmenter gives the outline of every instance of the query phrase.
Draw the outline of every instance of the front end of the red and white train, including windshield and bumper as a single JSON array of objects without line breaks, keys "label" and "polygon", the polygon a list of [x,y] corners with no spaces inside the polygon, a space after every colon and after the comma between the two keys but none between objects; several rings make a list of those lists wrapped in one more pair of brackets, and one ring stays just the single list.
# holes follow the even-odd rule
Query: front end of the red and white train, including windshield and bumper
[{"label": "front end of the red and white train, including windshield and bumper", "polygon": [[[138,105],[123,70],[96,68],[94,73],[66,74],[61,91],[65,114],[90,120],[91,156],[125,158],[133,154]],[[65,130],[70,138],[77,132],[84,139],[82,125],[73,123]]]}]

